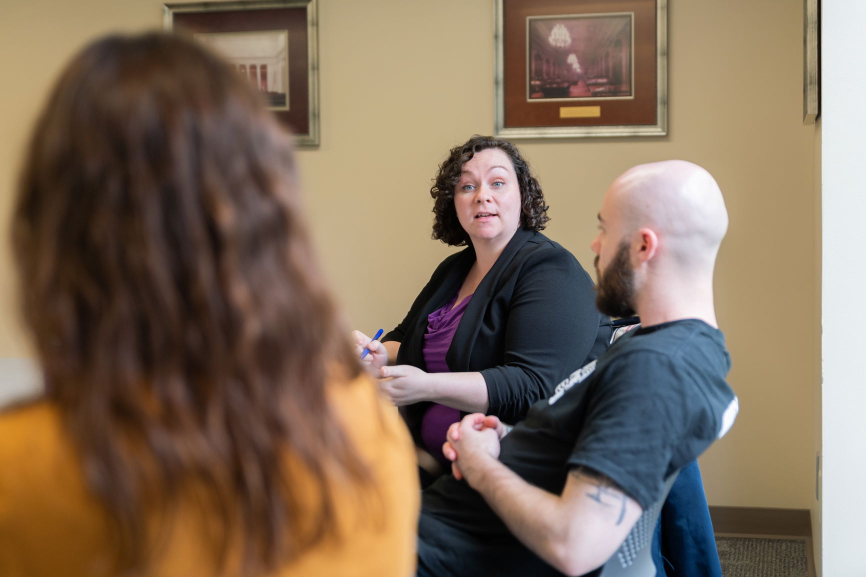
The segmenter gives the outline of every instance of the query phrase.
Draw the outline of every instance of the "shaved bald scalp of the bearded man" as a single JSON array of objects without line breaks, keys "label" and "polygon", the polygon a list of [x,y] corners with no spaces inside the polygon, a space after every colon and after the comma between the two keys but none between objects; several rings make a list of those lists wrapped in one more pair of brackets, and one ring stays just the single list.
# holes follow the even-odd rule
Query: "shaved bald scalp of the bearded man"
[{"label": "shaved bald scalp of the bearded man", "polygon": [[649,228],[662,254],[712,265],[727,231],[727,209],[709,172],[685,160],[637,165],[607,191],[626,234]]}]

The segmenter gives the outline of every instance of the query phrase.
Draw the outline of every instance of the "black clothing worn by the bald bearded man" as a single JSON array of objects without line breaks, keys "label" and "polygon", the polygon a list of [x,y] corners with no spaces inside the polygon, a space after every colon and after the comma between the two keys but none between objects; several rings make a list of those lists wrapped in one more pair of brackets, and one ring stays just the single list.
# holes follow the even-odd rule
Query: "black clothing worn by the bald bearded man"
[{"label": "black clothing worn by the bald bearded man", "polygon": [[[643,509],[663,480],[705,451],[733,423],[721,331],[687,319],[643,327],[617,340],[557,386],[502,440],[500,460],[557,495],[569,470],[596,470]],[[431,574],[552,574],[467,483],[443,477],[423,493],[419,563]]]}]

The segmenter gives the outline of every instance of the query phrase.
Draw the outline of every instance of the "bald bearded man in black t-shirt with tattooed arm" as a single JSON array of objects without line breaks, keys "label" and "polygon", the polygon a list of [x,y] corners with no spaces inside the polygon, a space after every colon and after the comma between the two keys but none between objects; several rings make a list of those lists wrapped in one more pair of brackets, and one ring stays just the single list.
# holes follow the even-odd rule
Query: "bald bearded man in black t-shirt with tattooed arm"
[{"label": "bald bearded man in black t-shirt with tattooed arm", "polygon": [[454,475],[423,493],[420,577],[597,574],[664,480],[733,424],[713,303],[727,231],[714,178],[682,160],[636,166],[605,192],[598,223],[598,308],[637,313],[642,327],[510,432],[481,413],[451,426]]}]

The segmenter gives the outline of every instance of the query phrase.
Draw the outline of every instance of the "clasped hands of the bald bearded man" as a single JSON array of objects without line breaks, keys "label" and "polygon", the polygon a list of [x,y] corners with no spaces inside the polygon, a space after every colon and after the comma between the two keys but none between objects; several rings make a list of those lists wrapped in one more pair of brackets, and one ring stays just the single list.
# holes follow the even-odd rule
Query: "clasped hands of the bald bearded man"
[{"label": "clasped hands of the bald bearded man", "polygon": [[481,412],[467,415],[449,426],[442,452],[451,461],[454,477],[465,478],[472,484],[476,471],[481,470],[486,461],[499,458],[500,440],[506,433],[507,427],[498,417]]}]

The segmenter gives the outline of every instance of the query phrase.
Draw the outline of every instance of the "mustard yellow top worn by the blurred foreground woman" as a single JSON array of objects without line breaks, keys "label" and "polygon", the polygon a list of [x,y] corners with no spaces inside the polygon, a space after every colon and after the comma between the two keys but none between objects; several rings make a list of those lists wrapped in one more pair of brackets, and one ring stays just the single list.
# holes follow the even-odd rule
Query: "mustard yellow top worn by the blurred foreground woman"
[{"label": "mustard yellow top worn by the blurred foreground woman", "polygon": [[[337,494],[339,536],[320,541],[274,575],[412,575],[420,493],[408,432],[369,379],[329,386],[329,399],[372,470],[381,496],[373,513],[380,514],[362,510],[352,491]],[[304,484],[301,479],[293,486]],[[212,577],[198,525],[179,515],[144,577]],[[57,408],[40,401],[0,412],[0,576],[109,575],[111,530],[85,487]]]}]

